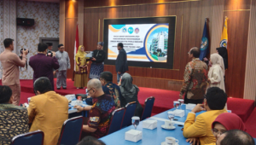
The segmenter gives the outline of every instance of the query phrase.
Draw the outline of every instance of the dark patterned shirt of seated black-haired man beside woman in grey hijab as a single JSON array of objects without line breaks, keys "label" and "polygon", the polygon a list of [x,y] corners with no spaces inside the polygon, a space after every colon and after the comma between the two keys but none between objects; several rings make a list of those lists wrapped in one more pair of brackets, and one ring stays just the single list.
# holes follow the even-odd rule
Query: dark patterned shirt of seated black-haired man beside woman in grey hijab
[{"label": "dark patterned shirt of seated black-haired man beside woman in grey hijab", "polygon": [[102,86],[102,90],[105,94],[113,97],[116,109],[119,107],[125,107],[125,98],[121,95],[120,88],[117,84],[113,84],[112,82],[108,83],[105,86]]}]

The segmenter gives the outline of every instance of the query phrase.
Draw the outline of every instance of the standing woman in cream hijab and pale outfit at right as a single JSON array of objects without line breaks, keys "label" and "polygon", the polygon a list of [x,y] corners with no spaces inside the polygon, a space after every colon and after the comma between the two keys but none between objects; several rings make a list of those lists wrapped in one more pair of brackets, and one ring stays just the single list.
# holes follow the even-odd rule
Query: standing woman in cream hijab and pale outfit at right
[{"label": "standing woman in cream hijab and pale outfit at right", "polygon": [[212,54],[210,57],[210,61],[212,63],[212,67],[208,72],[208,88],[211,87],[218,87],[221,90],[225,91],[225,84],[224,84],[224,63],[223,59],[218,54]]}]

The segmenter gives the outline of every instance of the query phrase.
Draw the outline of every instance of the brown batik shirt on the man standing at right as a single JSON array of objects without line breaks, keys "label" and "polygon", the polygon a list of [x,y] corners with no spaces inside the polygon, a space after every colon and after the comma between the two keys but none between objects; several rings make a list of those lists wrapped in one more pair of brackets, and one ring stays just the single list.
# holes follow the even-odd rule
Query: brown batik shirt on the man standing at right
[{"label": "brown batik shirt on the man standing at right", "polygon": [[187,93],[187,98],[192,100],[203,99],[207,90],[208,71],[207,64],[195,58],[185,67],[183,87],[180,95]]}]

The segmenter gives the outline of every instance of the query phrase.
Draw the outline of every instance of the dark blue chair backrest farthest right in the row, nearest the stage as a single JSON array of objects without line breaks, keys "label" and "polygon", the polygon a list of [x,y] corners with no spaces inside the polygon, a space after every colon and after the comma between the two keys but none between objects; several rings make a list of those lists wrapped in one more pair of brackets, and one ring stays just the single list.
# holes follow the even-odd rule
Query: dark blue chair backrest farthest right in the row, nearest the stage
[{"label": "dark blue chair backrest farthest right in the row, nearest the stage", "polygon": [[141,120],[147,119],[151,116],[153,106],[154,106],[154,96],[150,96],[145,101],[143,115],[142,115]]}]

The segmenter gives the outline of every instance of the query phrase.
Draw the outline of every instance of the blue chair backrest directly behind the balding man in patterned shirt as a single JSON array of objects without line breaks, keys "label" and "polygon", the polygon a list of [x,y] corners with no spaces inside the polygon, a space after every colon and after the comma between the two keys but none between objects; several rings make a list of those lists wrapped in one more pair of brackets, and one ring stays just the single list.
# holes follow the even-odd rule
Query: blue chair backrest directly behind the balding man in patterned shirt
[{"label": "blue chair backrest directly behind the balding man in patterned shirt", "polygon": [[124,114],[125,114],[125,108],[124,107],[121,107],[121,108],[116,109],[116,110],[113,111],[112,117],[110,119],[108,135],[115,132],[115,131],[119,131],[121,129]]}]

